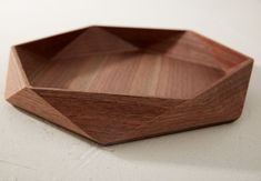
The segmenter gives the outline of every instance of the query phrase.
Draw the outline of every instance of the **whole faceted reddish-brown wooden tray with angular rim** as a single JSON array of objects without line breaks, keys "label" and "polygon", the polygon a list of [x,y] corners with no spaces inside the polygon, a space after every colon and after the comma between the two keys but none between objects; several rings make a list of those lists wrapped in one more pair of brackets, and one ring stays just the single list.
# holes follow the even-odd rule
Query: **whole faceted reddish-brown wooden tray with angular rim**
[{"label": "whole faceted reddish-brown wooden tray with angular rim", "polygon": [[6,99],[113,144],[234,121],[252,64],[193,31],[89,27],[14,46]]}]

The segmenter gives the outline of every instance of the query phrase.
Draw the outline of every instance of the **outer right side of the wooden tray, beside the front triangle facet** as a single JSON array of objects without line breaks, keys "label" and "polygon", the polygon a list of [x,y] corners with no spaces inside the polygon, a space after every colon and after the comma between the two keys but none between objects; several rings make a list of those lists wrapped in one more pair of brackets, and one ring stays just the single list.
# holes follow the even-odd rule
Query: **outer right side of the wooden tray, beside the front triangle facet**
[{"label": "outer right side of the wooden tray, beside the front triangle facet", "polygon": [[252,62],[247,62],[241,70],[213,88],[145,122],[130,135],[141,137],[140,132],[148,135],[174,132],[238,119],[243,109],[251,70]]}]

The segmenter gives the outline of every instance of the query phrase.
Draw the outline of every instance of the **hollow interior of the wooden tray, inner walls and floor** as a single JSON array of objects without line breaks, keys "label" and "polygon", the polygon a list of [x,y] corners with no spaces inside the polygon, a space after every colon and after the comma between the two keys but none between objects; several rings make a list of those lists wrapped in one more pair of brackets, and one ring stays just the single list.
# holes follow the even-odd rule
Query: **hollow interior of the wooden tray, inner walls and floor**
[{"label": "hollow interior of the wooden tray, inner walls and floor", "polygon": [[173,99],[193,98],[242,61],[188,31],[101,27],[22,44],[18,54],[34,87]]}]

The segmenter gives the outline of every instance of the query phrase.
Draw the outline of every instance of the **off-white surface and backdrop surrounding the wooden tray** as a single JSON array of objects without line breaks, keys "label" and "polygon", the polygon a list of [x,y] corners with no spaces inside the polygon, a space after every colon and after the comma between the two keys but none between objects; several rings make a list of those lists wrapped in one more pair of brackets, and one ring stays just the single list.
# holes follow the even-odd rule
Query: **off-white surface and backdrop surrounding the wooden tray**
[{"label": "off-white surface and backdrop surrounding the wooden tray", "polygon": [[[232,124],[100,147],[3,99],[10,46],[89,24],[193,29],[254,58]],[[261,0],[0,0],[0,181],[261,180]]]}]

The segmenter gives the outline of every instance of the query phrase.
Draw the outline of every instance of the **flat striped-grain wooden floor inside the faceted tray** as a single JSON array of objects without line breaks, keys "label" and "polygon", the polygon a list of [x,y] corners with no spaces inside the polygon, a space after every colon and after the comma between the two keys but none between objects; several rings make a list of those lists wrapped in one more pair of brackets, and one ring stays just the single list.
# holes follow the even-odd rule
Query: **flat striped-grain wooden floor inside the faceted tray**
[{"label": "flat striped-grain wooden floor inside the faceted tray", "polygon": [[52,60],[32,83],[86,92],[189,99],[223,74],[219,69],[161,53],[132,51]]}]

